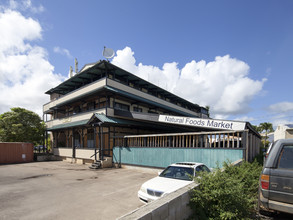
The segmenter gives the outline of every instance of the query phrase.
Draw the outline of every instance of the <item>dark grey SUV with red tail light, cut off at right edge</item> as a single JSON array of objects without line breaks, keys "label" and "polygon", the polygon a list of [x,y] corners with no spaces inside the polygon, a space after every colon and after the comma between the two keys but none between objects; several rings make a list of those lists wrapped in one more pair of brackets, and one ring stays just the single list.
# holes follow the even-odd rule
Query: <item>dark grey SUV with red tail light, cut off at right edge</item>
[{"label": "dark grey SUV with red tail light, cut off at right edge", "polygon": [[277,140],[270,148],[259,181],[260,213],[293,214],[293,139]]}]

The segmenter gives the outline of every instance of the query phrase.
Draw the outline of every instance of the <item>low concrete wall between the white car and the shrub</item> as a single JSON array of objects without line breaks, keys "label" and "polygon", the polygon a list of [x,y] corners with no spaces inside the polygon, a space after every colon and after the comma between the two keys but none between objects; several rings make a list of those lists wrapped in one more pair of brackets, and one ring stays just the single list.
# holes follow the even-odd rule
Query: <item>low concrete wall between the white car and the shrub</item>
[{"label": "low concrete wall between the white car and the shrub", "polygon": [[192,183],[120,217],[119,220],[187,219],[191,215],[188,206],[189,191],[197,186],[197,183]]}]

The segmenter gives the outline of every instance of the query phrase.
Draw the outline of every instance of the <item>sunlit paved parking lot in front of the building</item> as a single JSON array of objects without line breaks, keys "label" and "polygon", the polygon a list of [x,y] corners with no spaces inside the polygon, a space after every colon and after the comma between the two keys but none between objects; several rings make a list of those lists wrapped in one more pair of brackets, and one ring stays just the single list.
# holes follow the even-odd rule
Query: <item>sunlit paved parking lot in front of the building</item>
[{"label": "sunlit paved parking lot in front of the building", "polygon": [[137,191],[154,176],[62,161],[0,165],[0,219],[116,219],[143,205]]}]

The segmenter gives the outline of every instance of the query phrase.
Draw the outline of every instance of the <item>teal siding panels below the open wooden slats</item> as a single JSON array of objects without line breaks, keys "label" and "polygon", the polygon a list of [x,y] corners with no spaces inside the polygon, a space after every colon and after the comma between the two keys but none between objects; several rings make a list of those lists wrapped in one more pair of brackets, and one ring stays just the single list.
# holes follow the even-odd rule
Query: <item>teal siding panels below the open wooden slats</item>
[{"label": "teal siding panels below the open wooden slats", "polygon": [[217,148],[150,148],[114,147],[115,163],[150,167],[166,167],[175,162],[202,162],[215,168],[226,160],[234,162],[243,158],[243,149]]}]

